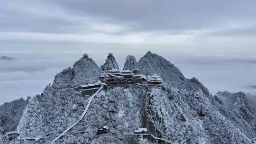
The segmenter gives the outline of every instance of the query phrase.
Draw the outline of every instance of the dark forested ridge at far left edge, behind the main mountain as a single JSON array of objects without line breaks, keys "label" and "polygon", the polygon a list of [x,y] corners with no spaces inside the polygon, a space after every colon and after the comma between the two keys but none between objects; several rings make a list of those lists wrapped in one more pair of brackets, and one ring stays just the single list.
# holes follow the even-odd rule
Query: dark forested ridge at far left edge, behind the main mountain
[{"label": "dark forested ridge at far left edge, behind the main mountain", "polygon": [[27,100],[17,99],[0,106],[0,133],[5,134],[16,130],[24,108],[27,106],[30,97]]}]

